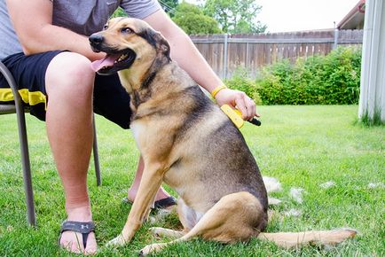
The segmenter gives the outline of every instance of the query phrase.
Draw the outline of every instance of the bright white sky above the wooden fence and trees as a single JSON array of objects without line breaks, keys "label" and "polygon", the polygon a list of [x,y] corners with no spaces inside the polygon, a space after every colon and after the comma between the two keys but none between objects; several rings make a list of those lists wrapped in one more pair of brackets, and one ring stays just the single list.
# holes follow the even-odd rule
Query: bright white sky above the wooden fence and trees
[{"label": "bright white sky above the wooden fence and trees", "polygon": [[[196,4],[202,1],[188,0]],[[358,0],[256,0],[262,6],[257,20],[266,32],[333,28],[358,4]]]}]

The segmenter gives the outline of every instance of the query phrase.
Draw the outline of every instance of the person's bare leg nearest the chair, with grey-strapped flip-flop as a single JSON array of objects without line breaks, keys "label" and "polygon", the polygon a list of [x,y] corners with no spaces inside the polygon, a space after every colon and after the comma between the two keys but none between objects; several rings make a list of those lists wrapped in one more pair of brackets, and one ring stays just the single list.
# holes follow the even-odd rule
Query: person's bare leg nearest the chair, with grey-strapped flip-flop
[{"label": "person's bare leg nearest the chair, with grey-strapped flip-flop", "polygon": [[[68,221],[90,222],[87,170],[92,146],[92,90],[94,72],[81,55],[63,52],[53,58],[45,75],[49,98],[46,113],[47,134],[53,158],[61,177]],[[95,253],[93,232],[83,249],[81,234],[65,231],[60,245],[75,253]]]}]

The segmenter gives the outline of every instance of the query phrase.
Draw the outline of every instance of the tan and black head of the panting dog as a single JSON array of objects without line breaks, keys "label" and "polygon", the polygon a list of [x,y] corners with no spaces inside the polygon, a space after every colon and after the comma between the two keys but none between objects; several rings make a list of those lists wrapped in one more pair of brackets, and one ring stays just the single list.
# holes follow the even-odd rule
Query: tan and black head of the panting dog
[{"label": "tan and black head of the panting dog", "polygon": [[141,19],[110,19],[89,39],[93,51],[106,52],[106,58],[92,63],[98,74],[114,74],[134,66],[144,70],[154,59],[170,60],[169,43]]}]

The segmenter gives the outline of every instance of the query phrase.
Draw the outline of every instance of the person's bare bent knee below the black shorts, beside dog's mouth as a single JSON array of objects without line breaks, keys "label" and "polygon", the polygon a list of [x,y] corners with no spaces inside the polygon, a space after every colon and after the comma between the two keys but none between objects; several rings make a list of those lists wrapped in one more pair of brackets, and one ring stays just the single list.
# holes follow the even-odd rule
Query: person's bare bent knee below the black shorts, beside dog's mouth
[{"label": "person's bare bent knee below the black shorts, beside dog's mouth", "polygon": [[91,99],[94,79],[95,73],[88,58],[73,52],[62,52],[51,60],[47,68],[47,94],[82,103]]}]

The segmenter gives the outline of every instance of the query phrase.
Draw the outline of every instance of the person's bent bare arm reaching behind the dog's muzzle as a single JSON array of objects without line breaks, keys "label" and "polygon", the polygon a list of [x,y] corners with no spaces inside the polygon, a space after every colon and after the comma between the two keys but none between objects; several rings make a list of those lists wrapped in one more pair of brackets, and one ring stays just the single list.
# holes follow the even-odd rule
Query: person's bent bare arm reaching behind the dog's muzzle
[{"label": "person's bent bare arm reaching behind the dog's muzzle", "polygon": [[104,56],[91,51],[86,36],[52,25],[53,4],[50,0],[6,0],[6,4],[26,55],[68,50],[80,53],[91,60]]}]

